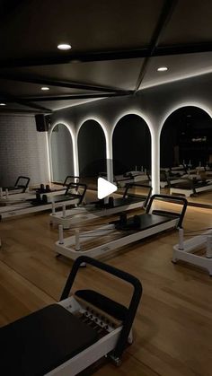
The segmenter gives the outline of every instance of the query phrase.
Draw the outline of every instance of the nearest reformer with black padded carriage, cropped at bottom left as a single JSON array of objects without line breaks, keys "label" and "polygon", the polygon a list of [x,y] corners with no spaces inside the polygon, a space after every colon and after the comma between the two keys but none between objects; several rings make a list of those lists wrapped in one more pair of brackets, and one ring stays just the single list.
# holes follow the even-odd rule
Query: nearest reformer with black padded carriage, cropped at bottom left
[{"label": "nearest reformer with black padded carriage, cropped at bottom left", "polygon": [[[93,290],[79,290],[75,292],[75,295],[69,296],[75,282],[75,276],[83,263],[98,268],[109,275],[114,275],[123,282],[130,284],[133,287],[133,292],[131,294],[128,307],[121,305],[119,302],[112,301],[105,295],[96,293]],[[23,374],[23,370],[25,371],[26,369],[28,370],[30,368],[31,372],[24,372],[25,376],[30,376],[31,374],[33,376],[35,374],[46,374],[48,376],[75,376],[79,372],[84,371],[84,369],[91,364],[101,359],[103,356],[107,356],[116,365],[120,365],[121,355],[123,354],[128,343],[132,343],[132,325],[137,313],[137,307],[141,296],[142,284],[135,276],[129,275],[127,272],[121,271],[116,267],[103,264],[102,262],[93,258],[87,258],[84,256],[78,258],[75,261],[66,280],[66,285],[61,295],[60,302],[34,312],[31,315],[23,319],[19,319],[4,328],[0,328],[0,337],[1,334],[4,336],[4,354],[3,361],[0,364],[0,371],[2,371],[3,374],[6,374],[6,371],[10,369],[10,374],[12,374],[12,372],[13,374]],[[58,322],[56,315],[54,315],[54,320],[52,321],[52,309],[54,309],[54,311],[57,310],[57,312],[64,312],[63,315],[66,314],[65,316],[70,317],[70,325],[73,322],[72,318],[74,315],[76,318],[75,324],[77,324],[77,320],[79,321],[79,324],[80,320],[82,319],[85,322],[88,320],[91,324],[94,324],[94,328],[89,327],[87,330],[94,332],[100,328],[103,331],[103,335],[101,337],[95,335],[96,340],[92,341],[91,344],[87,344],[83,350],[80,350],[77,349],[75,345],[75,338],[67,337],[66,329],[64,333],[66,338],[64,337],[64,341],[69,341],[70,344],[72,343],[72,345],[70,345],[71,356],[65,361],[62,361],[61,358],[57,358],[57,360],[54,359],[53,363],[57,363],[57,365],[53,368],[52,364],[49,365],[47,361],[45,361],[45,351],[47,353],[49,352],[50,355],[48,356],[48,362],[50,361],[49,363],[52,363],[51,358],[54,354],[55,357],[57,357],[57,349],[58,346],[61,347],[61,345],[57,343],[57,338],[51,332],[47,336],[45,333],[43,334],[42,331],[36,331],[38,323],[39,326],[41,326],[43,323],[43,317],[45,316],[43,315],[44,312],[47,312],[46,319],[44,321],[46,330],[48,330],[49,325],[50,328],[55,326],[56,328],[61,327],[60,330],[62,330],[62,328],[64,330],[63,322]],[[23,330],[20,330],[20,323]],[[82,325],[84,325],[85,328],[86,325],[89,326],[90,324],[82,323],[79,326],[77,324],[76,328],[83,328]],[[13,328],[13,330],[11,330],[11,328]],[[44,354],[44,357],[42,356],[41,358],[41,364],[38,362],[36,352],[33,352],[33,346],[31,348],[30,345],[31,333],[34,331],[36,333],[36,341],[38,342],[38,344],[36,344],[38,348],[38,356],[40,353],[42,355]],[[82,336],[82,333],[80,336]],[[48,340],[46,337],[48,337]],[[42,338],[46,347],[42,342]],[[17,340],[19,341],[19,344],[17,344],[18,347],[16,348]],[[84,341],[86,341],[86,338]],[[19,345],[22,348],[20,342],[27,342],[29,345],[24,352],[19,350]],[[11,344],[13,344],[13,346]],[[75,351],[73,351],[73,345],[74,348],[76,347]],[[13,352],[15,353],[16,351],[18,351],[18,353],[22,356],[22,360],[17,362],[17,364],[15,363],[15,361],[17,361],[17,355],[13,354]],[[72,355],[73,353],[74,355]],[[13,359],[12,363],[9,362],[11,356]],[[30,364],[29,359],[31,359]],[[47,370],[48,368],[50,368],[48,372],[44,372],[44,370]]]}]

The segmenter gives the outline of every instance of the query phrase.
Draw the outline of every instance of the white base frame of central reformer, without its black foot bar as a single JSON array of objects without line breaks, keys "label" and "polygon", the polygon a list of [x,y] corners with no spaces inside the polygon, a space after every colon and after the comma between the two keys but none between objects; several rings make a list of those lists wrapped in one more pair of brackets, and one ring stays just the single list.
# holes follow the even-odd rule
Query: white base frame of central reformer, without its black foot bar
[{"label": "white base frame of central reformer, without its black foot bar", "polygon": [[[59,240],[55,244],[55,251],[59,255],[66,256],[66,258],[71,258],[74,260],[78,258],[79,256],[83,256],[83,255],[89,256],[91,258],[96,258],[102,255],[106,255],[111,250],[124,247],[137,240],[145,239],[148,236],[154,235],[155,233],[172,229],[177,226],[178,222],[179,222],[179,218],[172,219],[168,222],[155,225],[154,227],[151,227],[149,229],[146,229],[143,231],[137,231],[133,234],[127,235],[118,240],[111,240],[108,243],[105,243],[100,246],[94,247],[93,249],[87,249],[87,250],[80,250],[80,244],[79,244],[80,235],[78,232],[76,233],[75,236],[71,236],[66,239],[63,239],[62,226],[61,227],[59,226]],[[98,231],[100,232],[103,231],[103,234],[105,235],[110,234],[110,232],[115,231],[115,225],[114,224],[109,224],[106,226],[104,225],[93,231],[82,232],[83,240],[81,241],[81,243],[83,244],[84,241],[86,240],[94,240],[96,236],[98,236]]]}]

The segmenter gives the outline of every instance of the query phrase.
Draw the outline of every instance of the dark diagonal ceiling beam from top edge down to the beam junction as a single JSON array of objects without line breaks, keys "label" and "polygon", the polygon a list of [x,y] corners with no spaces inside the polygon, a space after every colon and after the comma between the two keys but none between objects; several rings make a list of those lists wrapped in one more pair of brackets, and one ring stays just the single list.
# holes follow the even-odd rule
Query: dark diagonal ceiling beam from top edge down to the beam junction
[{"label": "dark diagonal ceiling beam from top edge down to the beam junction", "polygon": [[162,36],[162,33],[167,25],[167,23],[170,21],[172,17],[172,13],[175,9],[176,4],[178,3],[178,0],[165,0],[163,3],[163,8],[159,17],[159,20],[156,24],[155,31],[153,33],[152,39],[151,39],[151,47],[149,50],[149,55],[145,58],[145,61],[143,62],[143,65],[140,70],[140,74],[137,78],[137,85],[135,92],[139,90],[139,87],[144,80],[144,77],[146,75],[147,67],[150,63],[150,58],[154,56],[154,53],[156,51],[156,48],[159,44],[159,40]]}]

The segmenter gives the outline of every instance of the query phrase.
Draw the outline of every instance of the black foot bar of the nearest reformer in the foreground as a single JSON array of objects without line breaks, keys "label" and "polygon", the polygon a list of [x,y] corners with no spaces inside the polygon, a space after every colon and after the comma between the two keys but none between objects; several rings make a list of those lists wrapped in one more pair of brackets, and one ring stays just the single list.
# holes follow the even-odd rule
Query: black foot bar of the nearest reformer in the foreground
[{"label": "black foot bar of the nearest reformer in the foreground", "polygon": [[66,285],[64,287],[60,301],[68,297],[72,289],[72,286],[75,282],[75,275],[77,274],[81,264],[83,263],[90,264],[93,267],[97,267],[98,269],[101,269],[104,272],[109,273],[110,275],[115,275],[119,279],[125,282],[128,282],[128,284],[131,284],[134,287],[134,292],[132,294],[131,300],[128,305],[128,313],[126,314],[126,317],[123,320],[123,327],[120,332],[117,345],[112,353],[113,358],[119,358],[121,354],[123,353],[125,346],[127,345],[127,342],[128,342],[129,332],[132,327],[133,321],[135,319],[135,316],[137,313],[137,307],[138,307],[138,304],[140,302],[141,295],[142,295],[142,290],[143,290],[142,284],[134,275],[130,275],[127,272],[117,269],[116,267],[111,267],[108,264],[104,264],[95,258],[89,258],[87,256],[80,256],[79,258],[76,258],[74,265],[72,267],[72,270],[67,277]]}]

